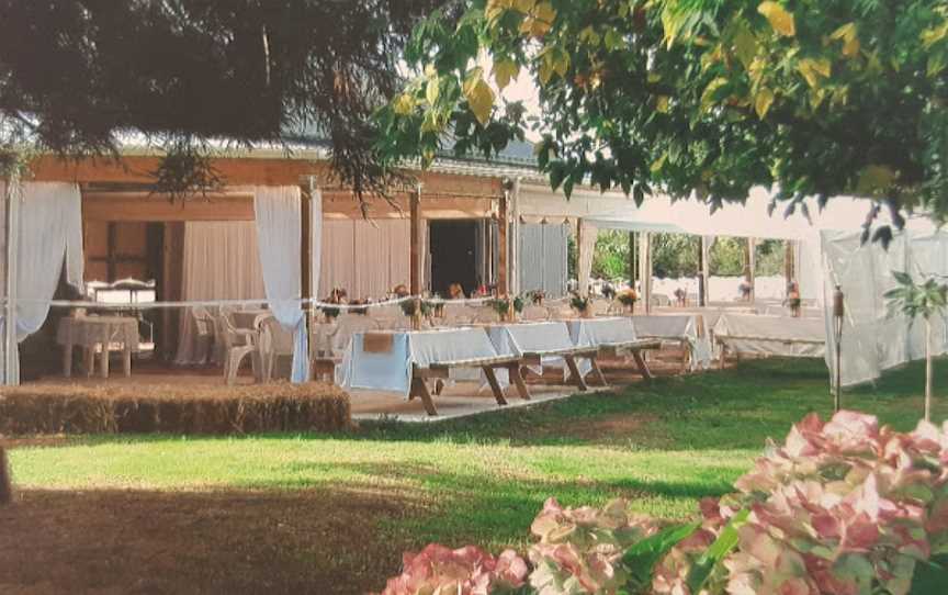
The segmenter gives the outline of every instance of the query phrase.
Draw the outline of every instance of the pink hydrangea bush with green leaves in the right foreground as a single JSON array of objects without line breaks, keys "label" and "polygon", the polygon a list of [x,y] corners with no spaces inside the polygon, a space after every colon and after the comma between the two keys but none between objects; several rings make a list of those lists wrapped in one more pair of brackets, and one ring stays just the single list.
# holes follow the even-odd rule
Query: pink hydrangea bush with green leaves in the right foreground
[{"label": "pink hydrangea bush with green leaves in the right foreground", "polygon": [[531,527],[529,584],[512,551],[501,564],[476,548],[429,546],[440,548],[431,562],[406,557],[385,593],[948,593],[948,423],[900,434],[858,413],[810,415],[735,487],[703,499],[689,525],[630,515],[623,501],[550,498]]}]

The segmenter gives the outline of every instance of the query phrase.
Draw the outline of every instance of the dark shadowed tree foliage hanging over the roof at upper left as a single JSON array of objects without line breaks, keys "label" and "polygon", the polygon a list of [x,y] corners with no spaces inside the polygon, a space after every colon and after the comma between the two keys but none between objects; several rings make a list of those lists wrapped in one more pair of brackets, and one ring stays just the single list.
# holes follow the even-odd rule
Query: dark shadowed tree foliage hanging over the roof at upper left
[{"label": "dark shadowed tree foliage hanging over the roof at upper left", "polygon": [[187,177],[208,139],[309,130],[346,181],[372,188],[385,173],[372,114],[404,83],[413,26],[443,3],[0,0],[0,149],[108,154],[139,133]]}]

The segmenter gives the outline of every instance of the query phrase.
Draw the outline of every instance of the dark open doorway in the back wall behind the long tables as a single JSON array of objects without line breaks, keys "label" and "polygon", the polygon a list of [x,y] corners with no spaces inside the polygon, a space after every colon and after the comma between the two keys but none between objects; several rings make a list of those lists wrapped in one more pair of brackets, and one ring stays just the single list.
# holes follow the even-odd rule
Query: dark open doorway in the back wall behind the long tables
[{"label": "dark open doorway in the back wall behind the long tables", "polygon": [[477,289],[474,257],[475,221],[432,221],[429,227],[431,251],[431,291],[448,295],[451,283],[461,283],[464,294]]}]

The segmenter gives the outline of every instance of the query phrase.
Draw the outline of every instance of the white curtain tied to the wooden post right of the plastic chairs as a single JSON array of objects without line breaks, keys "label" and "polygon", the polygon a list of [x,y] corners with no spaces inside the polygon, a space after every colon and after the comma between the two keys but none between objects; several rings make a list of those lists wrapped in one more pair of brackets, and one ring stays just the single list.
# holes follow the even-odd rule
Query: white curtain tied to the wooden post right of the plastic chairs
[{"label": "white curtain tied to the wooden post right of the plastic chairs", "polygon": [[302,298],[303,276],[302,212],[300,187],[257,187],[253,213],[260,244],[263,285],[273,315],[293,332],[293,382],[309,380],[309,344],[306,318],[297,301]]}]

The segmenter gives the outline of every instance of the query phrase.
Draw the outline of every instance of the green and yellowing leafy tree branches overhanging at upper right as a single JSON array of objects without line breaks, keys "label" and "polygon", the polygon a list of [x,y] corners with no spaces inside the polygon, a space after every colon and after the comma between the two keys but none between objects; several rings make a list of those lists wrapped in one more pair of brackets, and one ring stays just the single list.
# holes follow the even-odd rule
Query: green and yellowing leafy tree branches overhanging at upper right
[{"label": "green and yellowing leafy tree branches overhanging at upper right", "polygon": [[[447,135],[490,154],[534,126],[539,164],[567,194],[591,182],[713,207],[776,184],[788,210],[855,194],[896,224],[948,215],[946,0],[464,5],[416,29],[418,76],[380,116],[392,160],[430,162]],[[540,90],[533,121],[498,99],[517,77]]]}]

